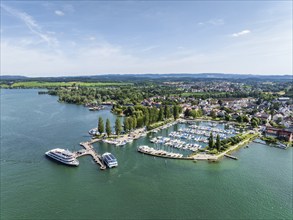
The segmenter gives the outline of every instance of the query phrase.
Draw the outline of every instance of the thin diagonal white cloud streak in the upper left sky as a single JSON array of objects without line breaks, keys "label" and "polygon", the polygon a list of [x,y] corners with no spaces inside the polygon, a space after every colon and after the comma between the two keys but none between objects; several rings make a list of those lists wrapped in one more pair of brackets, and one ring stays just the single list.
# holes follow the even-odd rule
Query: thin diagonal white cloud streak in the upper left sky
[{"label": "thin diagonal white cloud streak in the upper left sky", "polygon": [[49,46],[54,46],[58,43],[57,39],[50,36],[48,32],[45,32],[42,30],[42,27],[37,23],[37,21],[30,16],[29,14],[25,12],[18,11],[17,9],[11,8],[7,5],[1,4],[1,8],[3,8],[5,11],[7,11],[9,14],[13,15],[14,17],[17,17],[22,22],[25,23],[25,25],[29,28],[29,30],[41,38],[43,41],[45,41]]}]

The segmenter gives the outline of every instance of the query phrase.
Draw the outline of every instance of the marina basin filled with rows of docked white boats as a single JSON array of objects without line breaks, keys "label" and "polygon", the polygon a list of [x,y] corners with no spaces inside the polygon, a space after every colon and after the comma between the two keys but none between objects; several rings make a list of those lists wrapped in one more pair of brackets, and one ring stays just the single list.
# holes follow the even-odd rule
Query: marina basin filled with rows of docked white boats
[{"label": "marina basin filled with rows of docked white boats", "polygon": [[[158,133],[161,131],[160,133]],[[183,154],[185,158],[195,160],[218,160],[219,155],[208,154],[205,150],[210,133],[214,138],[219,135],[220,139],[232,137],[239,133],[232,125],[212,123],[209,121],[185,121],[178,120],[176,124],[165,129],[159,128],[154,136],[149,139],[155,150],[163,150],[170,153]],[[148,153],[148,152],[147,152]],[[155,154],[155,156],[161,156]]]}]

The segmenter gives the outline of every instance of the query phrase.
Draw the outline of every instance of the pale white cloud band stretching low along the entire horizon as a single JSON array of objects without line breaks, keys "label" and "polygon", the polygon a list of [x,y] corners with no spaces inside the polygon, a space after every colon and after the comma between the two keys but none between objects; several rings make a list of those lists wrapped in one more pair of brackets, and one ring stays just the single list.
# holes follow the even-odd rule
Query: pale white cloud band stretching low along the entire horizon
[{"label": "pale white cloud band stretching low along the entire horizon", "polygon": [[[41,49],[4,40],[1,42],[1,54],[5,54],[1,56],[1,74],[29,74],[29,76],[182,72],[289,74],[292,69],[290,50],[292,43],[289,47],[288,40],[280,38],[271,42],[261,37],[257,41],[235,42],[229,48],[205,54],[182,48],[164,57],[149,56],[148,58],[140,57],[139,53],[127,53],[123,47],[109,43],[95,46],[74,44],[72,53],[69,54],[65,51],[44,52]],[[267,47],[267,45],[275,46]]]}]

